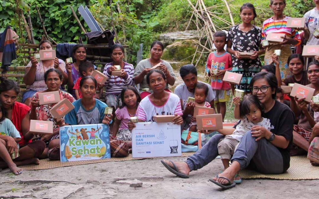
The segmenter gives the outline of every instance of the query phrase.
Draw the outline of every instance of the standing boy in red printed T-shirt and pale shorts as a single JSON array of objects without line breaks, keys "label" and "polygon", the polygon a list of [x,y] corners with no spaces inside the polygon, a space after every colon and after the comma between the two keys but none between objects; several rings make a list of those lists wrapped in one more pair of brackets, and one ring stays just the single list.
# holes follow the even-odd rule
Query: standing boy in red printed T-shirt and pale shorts
[{"label": "standing boy in red printed T-shirt and pale shorts", "polygon": [[223,77],[226,70],[232,70],[232,57],[224,49],[226,45],[226,33],[217,31],[214,34],[214,45],[217,49],[208,55],[207,68],[211,76],[211,88],[215,92],[214,102],[217,106],[217,111],[222,114],[223,120],[226,114],[226,102],[229,100],[230,85],[223,82]]}]

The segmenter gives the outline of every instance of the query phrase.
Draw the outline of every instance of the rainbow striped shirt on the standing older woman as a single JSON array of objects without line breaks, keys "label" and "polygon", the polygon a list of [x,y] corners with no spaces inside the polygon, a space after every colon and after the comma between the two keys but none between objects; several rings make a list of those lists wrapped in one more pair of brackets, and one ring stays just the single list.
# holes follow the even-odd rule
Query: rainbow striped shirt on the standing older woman
[{"label": "rainbow striped shirt on the standing older woman", "polygon": [[293,28],[287,28],[288,18],[289,17],[285,17],[284,19],[280,20],[274,20],[273,17],[271,17],[269,19],[266,19],[263,22],[262,40],[266,39],[268,33],[284,33],[287,37],[296,39],[298,41],[298,44],[296,46],[300,45],[301,38],[298,31]]}]

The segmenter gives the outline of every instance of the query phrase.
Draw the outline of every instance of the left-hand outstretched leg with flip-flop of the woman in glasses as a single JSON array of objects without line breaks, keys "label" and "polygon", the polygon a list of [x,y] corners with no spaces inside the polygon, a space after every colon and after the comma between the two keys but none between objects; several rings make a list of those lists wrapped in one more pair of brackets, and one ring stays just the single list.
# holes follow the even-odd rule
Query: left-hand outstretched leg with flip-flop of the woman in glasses
[{"label": "left-hand outstretched leg with flip-flop of the woman in glasses", "polygon": [[[189,172],[200,169],[214,160],[218,156],[218,142],[223,138],[223,135],[216,134],[200,150],[189,156],[185,162],[174,162],[179,173],[189,175]],[[174,168],[170,161],[163,161],[169,167]]]}]

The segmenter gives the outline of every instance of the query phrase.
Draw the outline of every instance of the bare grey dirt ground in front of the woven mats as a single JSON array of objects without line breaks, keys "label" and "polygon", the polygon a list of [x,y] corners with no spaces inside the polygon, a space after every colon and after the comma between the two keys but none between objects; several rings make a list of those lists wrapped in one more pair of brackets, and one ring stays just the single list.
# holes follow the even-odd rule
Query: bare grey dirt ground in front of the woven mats
[{"label": "bare grey dirt ground in front of the woven mats", "polygon": [[[18,176],[5,169],[0,172],[0,198],[318,198],[319,194],[319,180],[243,180],[232,189],[222,190],[208,181],[222,169],[220,159],[191,172],[189,179],[171,174],[160,160],[25,170]],[[130,187],[134,179],[143,185]]]}]

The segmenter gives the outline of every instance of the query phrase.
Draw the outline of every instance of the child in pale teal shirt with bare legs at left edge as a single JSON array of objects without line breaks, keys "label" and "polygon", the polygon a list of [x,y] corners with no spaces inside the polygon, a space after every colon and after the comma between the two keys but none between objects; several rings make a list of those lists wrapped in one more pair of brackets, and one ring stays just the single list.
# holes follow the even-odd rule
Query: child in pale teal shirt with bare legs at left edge
[{"label": "child in pale teal shirt with bare legs at left edge", "polygon": [[[11,120],[6,118],[7,116],[8,113],[0,103],[0,162],[4,161],[12,173],[19,175],[22,173],[22,169],[13,162],[11,155],[14,154],[13,156],[17,157],[19,153],[18,142],[21,140],[21,136]],[[12,139],[16,142],[15,147],[11,146],[7,149],[7,142]]]}]

